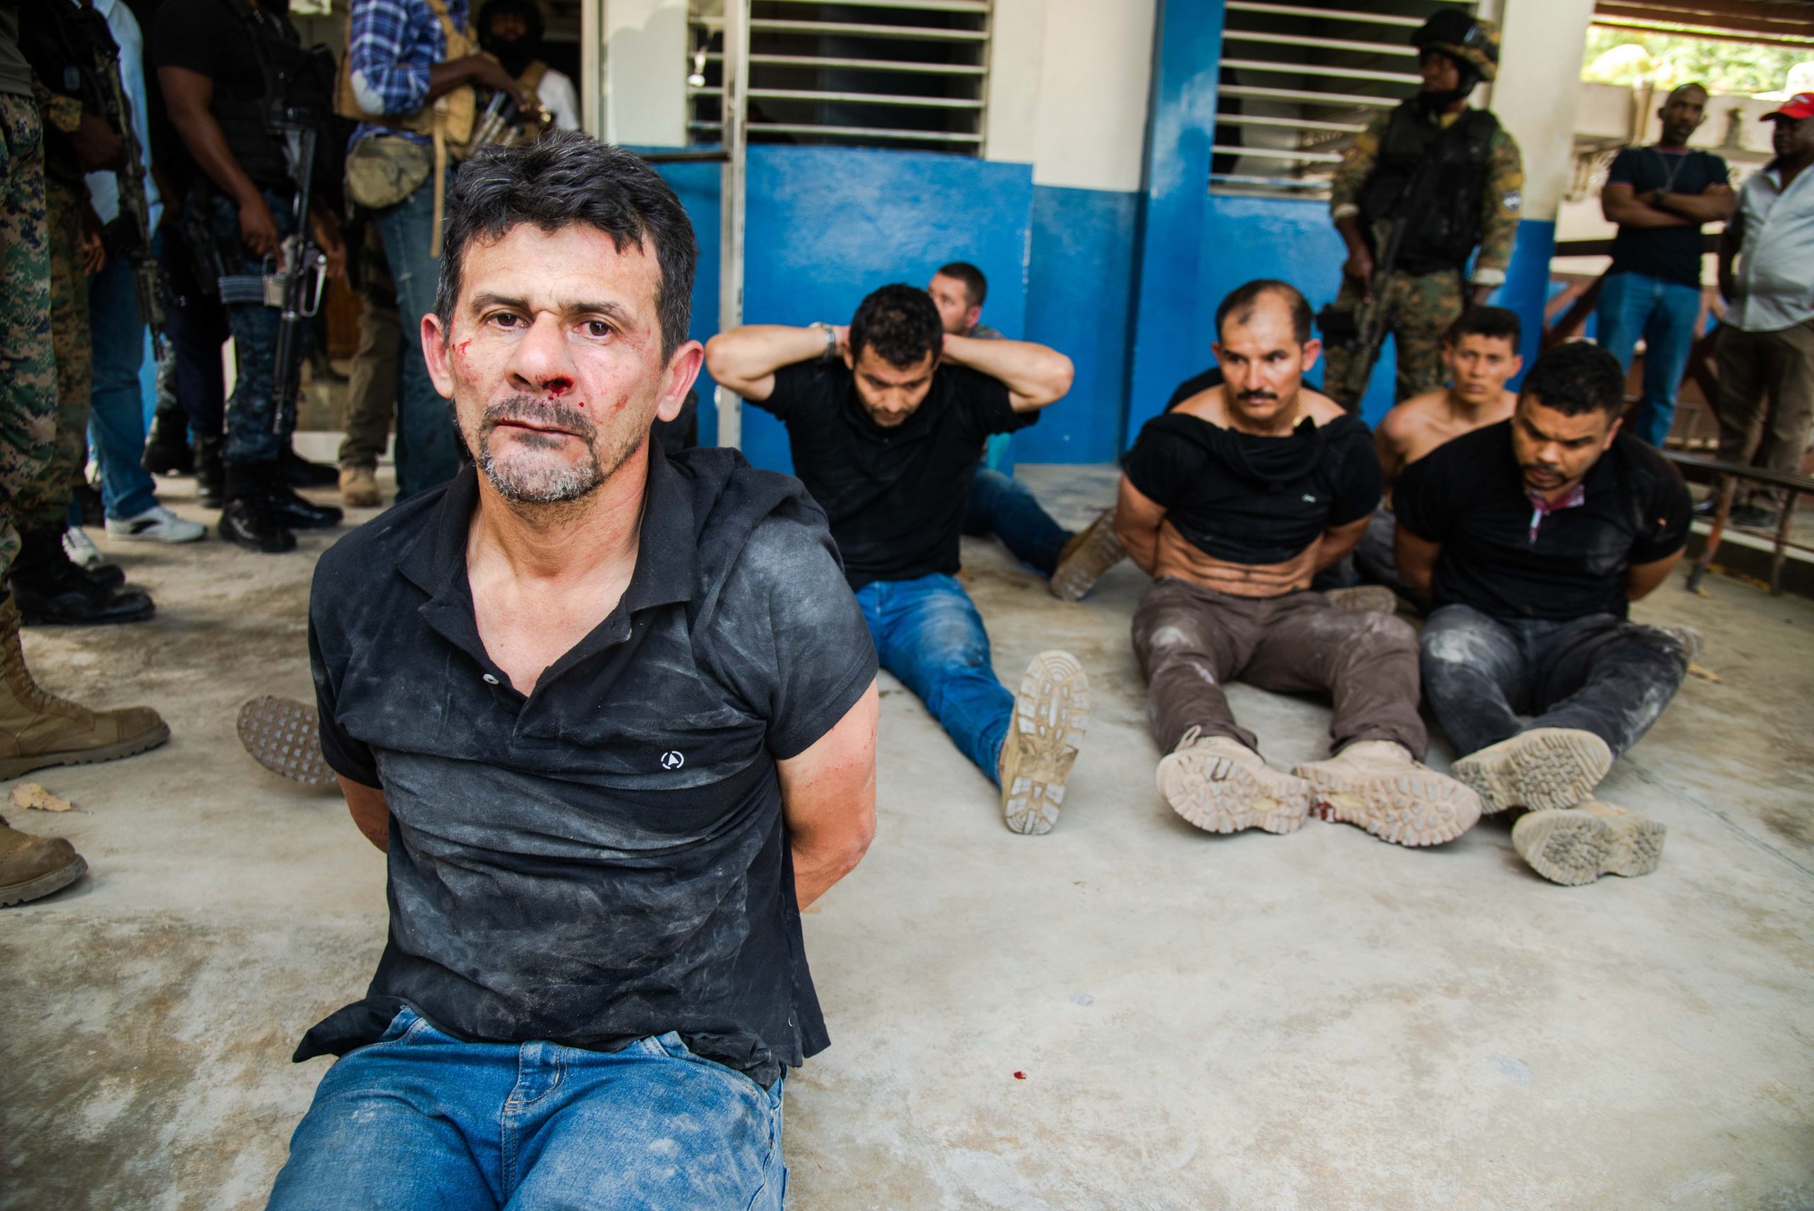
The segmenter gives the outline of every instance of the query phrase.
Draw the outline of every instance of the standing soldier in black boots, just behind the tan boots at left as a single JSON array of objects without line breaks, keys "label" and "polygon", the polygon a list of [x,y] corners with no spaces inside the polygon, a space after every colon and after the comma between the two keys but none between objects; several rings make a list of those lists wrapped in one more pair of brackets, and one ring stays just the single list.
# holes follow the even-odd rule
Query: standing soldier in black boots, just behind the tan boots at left
[{"label": "standing soldier in black boots, just behind the tan boots at left", "polygon": [[56,441],[44,468],[13,495],[20,529],[13,598],[27,624],[141,622],[152,615],[151,596],[125,587],[120,567],[78,567],[63,549],[69,502],[87,466],[93,379],[87,276],[102,261],[100,219],[89,205],[83,174],[125,165],[125,141],[105,118],[100,80],[100,71],[118,71],[118,47],[107,20],[93,7],[54,0],[24,9],[20,49],[33,69],[44,121]]}]

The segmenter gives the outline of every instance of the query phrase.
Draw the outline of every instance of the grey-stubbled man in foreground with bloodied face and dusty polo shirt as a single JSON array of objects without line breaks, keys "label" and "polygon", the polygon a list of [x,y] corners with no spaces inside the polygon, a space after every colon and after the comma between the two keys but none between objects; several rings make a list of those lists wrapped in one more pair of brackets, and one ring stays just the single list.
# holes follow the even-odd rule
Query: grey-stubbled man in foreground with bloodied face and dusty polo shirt
[{"label": "grey-stubbled man in foreground with bloodied face and dusty polo shirt", "polygon": [[824,513],[669,460],[700,366],[673,190],[486,149],[419,343],[477,457],[323,555],[321,747],[388,854],[366,997],[270,1207],[782,1206],[825,1046],[800,908],[874,830],[874,653]]}]

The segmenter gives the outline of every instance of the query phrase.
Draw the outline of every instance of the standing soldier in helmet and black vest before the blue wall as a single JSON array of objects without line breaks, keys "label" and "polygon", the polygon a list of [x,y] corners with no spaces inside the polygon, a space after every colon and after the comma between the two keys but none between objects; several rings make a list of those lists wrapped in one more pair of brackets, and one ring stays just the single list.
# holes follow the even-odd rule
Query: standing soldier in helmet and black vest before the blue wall
[{"label": "standing soldier in helmet and black vest before the blue wall", "polygon": [[[1371,290],[1395,219],[1408,223],[1384,303],[1397,341],[1395,399],[1442,386],[1442,335],[1471,303],[1506,281],[1518,234],[1524,165],[1518,143],[1468,94],[1498,74],[1498,29],[1444,9],[1411,36],[1424,87],[1368,123],[1335,170],[1330,212],[1348,245],[1335,312],[1353,312]],[[1478,247],[1471,290],[1468,257]],[[1357,350],[1326,332],[1330,395],[1348,408],[1341,383]]]}]

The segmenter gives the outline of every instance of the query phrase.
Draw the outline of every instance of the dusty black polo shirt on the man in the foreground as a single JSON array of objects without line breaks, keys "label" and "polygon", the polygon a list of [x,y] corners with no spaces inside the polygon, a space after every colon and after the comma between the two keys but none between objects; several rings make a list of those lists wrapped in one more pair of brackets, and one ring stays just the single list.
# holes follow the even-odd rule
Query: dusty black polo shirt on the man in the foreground
[{"label": "dusty black polo shirt on the man in the foreground", "polygon": [[775,763],[876,674],[825,517],[729,450],[651,442],[622,602],[524,698],[479,640],[466,468],[316,567],[321,749],[390,803],[390,935],[366,997],[457,1037],[611,1051],[678,1032],[773,1084],[825,1048]]}]

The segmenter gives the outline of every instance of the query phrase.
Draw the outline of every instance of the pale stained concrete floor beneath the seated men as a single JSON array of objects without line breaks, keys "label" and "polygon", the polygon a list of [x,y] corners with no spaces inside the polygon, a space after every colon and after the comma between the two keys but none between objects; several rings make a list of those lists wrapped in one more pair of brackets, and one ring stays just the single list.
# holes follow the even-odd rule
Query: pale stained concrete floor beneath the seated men
[{"label": "pale stained concrete floor beneath the seated men", "polygon": [[[1025,477],[1067,520],[1112,482]],[[0,1206],[258,1207],[283,1162],[327,1068],[288,1053],[370,977],[383,861],[234,711],[307,694],[332,540],[100,538],[158,620],[27,635],[42,682],[174,740],[33,776],[80,812],[7,810],[91,874],[0,916]],[[1190,828],[1154,792],[1139,575],[1063,606],[992,542],[965,560],[1003,678],[1083,660],[1088,747],[1058,830],[1012,836],[883,678],[882,830],[807,916],[834,1042],[789,1080],[791,1206],[1814,1207],[1814,604],[1678,580],[1638,607],[1702,627],[1721,682],[1605,785],[1667,821],[1662,870],[1560,888],[1495,821],[1433,852]],[[1234,698],[1275,761],[1322,751],[1322,705]]]}]

